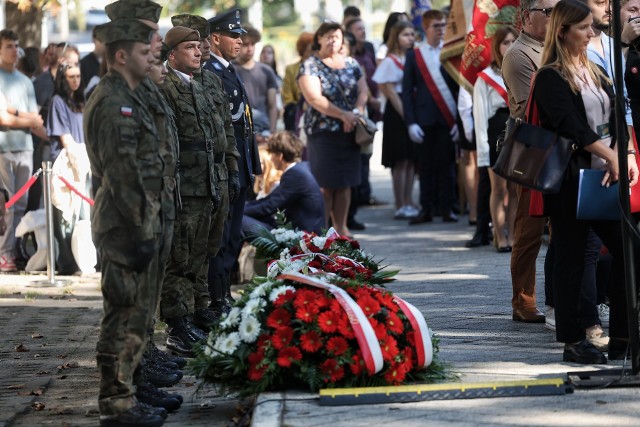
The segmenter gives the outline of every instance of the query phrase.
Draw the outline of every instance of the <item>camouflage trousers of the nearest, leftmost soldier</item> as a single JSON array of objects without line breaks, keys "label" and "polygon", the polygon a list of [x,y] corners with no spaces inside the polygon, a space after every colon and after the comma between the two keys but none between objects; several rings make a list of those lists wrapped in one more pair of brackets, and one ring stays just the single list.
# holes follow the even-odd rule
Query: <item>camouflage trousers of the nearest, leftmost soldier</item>
[{"label": "camouflage trousers of the nearest, leftmost soldier", "polygon": [[[144,271],[131,267],[135,242],[131,230],[118,228],[94,236],[102,265],[104,313],[96,346],[101,415],[117,415],[135,405],[133,373],[140,364],[147,343],[148,330],[160,295],[158,280],[164,271],[159,260],[168,251],[165,236],[155,256]],[[165,255],[166,256],[166,255]]]}]

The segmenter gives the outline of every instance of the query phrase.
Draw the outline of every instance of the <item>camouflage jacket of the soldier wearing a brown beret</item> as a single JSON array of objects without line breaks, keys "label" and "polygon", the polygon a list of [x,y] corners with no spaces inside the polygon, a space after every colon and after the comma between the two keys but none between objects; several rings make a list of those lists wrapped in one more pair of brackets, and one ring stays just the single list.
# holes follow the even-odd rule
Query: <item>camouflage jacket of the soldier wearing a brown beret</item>
[{"label": "camouflage jacket of the soldier wearing a brown beret", "polygon": [[180,194],[217,198],[214,153],[226,144],[222,120],[209,113],[211,105],[202,85],[191,80],[187,86],[171,67],[160,90],[176,115]]}]

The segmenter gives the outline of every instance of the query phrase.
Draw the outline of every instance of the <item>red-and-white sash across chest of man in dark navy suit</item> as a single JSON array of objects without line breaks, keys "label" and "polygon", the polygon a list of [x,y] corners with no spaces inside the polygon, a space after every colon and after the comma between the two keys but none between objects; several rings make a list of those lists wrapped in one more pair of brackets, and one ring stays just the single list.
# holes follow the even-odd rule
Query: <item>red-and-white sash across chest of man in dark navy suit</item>
[{"label": "red-and-white sash across chest of man in dark navy suit", "polygon": [[[442,64],[440,60],[432,58],[432,56],[426,52],[428,48],[427,45],[424,45],[421,48],[417,47],[414,49],[416,64],[438,109],[444,116],[449,127],[453,127],[456,124],[456,114],[458,113],[456,101],[449,90],[449,86],[447,86],[447,82],[444,80],[444,77],[442,77],[442,72],[440,71]],[[425,52],[423,53],[421,49],[425,49]]]}]

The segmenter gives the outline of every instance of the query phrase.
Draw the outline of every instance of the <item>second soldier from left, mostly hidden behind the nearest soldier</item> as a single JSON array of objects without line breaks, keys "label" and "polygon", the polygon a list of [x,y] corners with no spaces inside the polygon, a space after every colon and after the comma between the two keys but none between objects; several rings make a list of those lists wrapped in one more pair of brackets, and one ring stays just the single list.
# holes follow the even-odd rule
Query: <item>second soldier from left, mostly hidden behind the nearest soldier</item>
[{"label": "second soldier from left, mostly hidden behind the nearest soldier", "polygon": [[[111,3],[105,8],[108,17],[117,21],[120,19],[136,18],[154,30],[151,38],[151,51],[156,60],[160,59],[162,49],[162,37],[158,33],[158,20],[162,7],[151,0],[119,0]],[[149,112],[158,129],[158,139],[160,141],[160,155],[165,164],[165,174],[162,183],[162,229],[164,241],[161,242],[163,251],[160,253],[158,262],[158,286],[156,293],[150,301],[150,310],[154,313],[158,307],[166,260],[171,248],[173,235],[173,223],[176,218],[180,195],[178,193],[179,183],[177,182],[178,160],[178,137],[175,126],[175,116],[167,105],[164,97],[158,90],[157,85],[149,78],[145,78],[136,87],[136,93],[140,99],[144,99],[149,107]],[[153,342],[154,320],[148,327],[149,340],[147,350],[144,353],[143,361],[134,375],[134,382],[137,385],[136,396],[142,402],[154,406],[162,406],[169,411],[177,409],[182,403],[182,397],[177,394],[168,394],[158,387],[171,386],[182,378],[182,373],[178,367],[186,365],[186,360],[169,356],[160,351]],[[170,369],[167,369],[170,366]]]}]

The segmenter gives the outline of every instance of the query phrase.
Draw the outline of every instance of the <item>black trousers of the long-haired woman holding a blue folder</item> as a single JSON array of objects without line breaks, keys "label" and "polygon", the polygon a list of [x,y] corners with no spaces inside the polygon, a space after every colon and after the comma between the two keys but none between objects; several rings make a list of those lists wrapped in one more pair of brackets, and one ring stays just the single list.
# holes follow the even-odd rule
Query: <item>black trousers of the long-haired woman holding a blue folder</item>
[{"label": "black trousers of the long-haired woman holding a blue folder", "polygon": [[[556,338],[573,343],[585,338],[581,322],[580,298],[585,267],[585,251],[592,229],[613,257],[609,301],[611,314],[609,336],[626,339],[626,290],[622,254],[622,230],[619,221],[581,221],[575,218],[575,203],[564,206],[551,215],[555,260],[553,264],[553,295],[556,314]],[[571,207],[573,206],[573,211]],[[636,258],[637,251],[636,251]],[[635,260],[635,265],[638,260]]]}]

